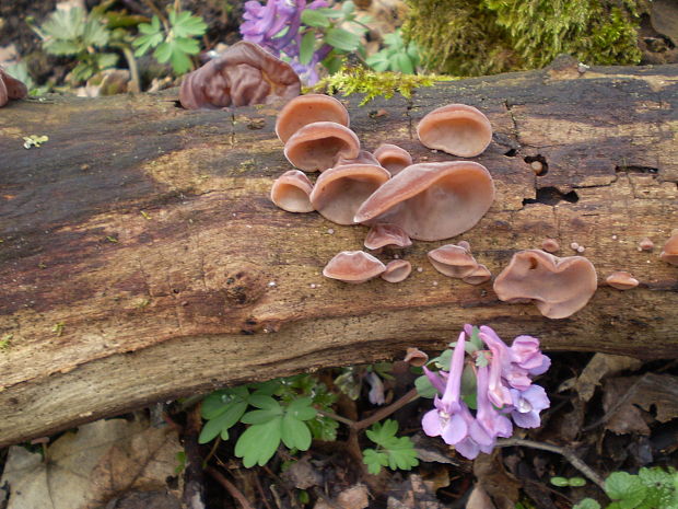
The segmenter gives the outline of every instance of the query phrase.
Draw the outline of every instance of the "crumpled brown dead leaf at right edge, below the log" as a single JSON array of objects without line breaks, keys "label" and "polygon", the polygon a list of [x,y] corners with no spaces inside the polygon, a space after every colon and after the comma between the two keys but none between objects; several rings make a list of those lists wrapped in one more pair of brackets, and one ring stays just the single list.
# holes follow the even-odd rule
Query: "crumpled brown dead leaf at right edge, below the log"
[{"label": "crumpled brown dead leaf at right edge, below the log", "polygon": [[[618,435],[650,435],[646,419],[667,423],[678,417],[677,401],[678,377],[671,374],[645,373],[609,379],[605,382],[603,395],[605,427]],[[654,417],[650,415],[652,410],[656,413]]]}]

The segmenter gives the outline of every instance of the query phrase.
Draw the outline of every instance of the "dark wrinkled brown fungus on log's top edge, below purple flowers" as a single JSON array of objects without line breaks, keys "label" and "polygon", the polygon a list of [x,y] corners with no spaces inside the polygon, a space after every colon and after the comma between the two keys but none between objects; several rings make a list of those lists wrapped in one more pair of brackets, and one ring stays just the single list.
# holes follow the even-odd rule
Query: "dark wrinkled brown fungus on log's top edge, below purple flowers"
[{"label": "dark wrinkled brown fungus on log's top edge, below purple flowers", "polygon": [[259,45],[241,41],[184,77],[179,101],[187,109],[270,104],[301,93],[292,66]]}]

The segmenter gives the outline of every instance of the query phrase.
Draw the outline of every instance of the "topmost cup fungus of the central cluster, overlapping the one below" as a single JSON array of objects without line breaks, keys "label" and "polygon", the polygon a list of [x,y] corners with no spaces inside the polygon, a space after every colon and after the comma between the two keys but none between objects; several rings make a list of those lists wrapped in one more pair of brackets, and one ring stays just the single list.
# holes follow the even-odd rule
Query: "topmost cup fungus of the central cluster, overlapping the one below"
[{"label": "topmost cup fungus of the central cluster, overlapping the one below", "polygon": [[284,143],[299,129],[314,122],[335,122],[349,127],[349,112],[329,95],[300,95],[285,104],[278,114],[276,135]]}]

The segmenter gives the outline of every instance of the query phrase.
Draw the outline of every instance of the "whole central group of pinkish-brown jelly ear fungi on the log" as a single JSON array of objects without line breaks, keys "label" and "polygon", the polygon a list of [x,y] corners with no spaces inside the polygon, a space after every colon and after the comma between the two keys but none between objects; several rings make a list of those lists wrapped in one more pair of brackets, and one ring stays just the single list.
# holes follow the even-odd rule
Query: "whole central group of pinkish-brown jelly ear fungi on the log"
[{"label": "whole central group of pinkish-brown jelly ear fungi on the log", "polygon": [[[490,172],[474,161],[414,163],[400,147],[384,143],[373,153],[361,150],[350,129],[349,114],[336,99],[308,94],[290,101],[278,115],[276,132],[294,166],[320,172],[315,185],[299,170],[279,177],[271,199],[291,211],[316,210],[338,224],[371,227],[365,247],[406,247],[411,240],[440,241],[459,235],[489,210],[494,199]],[[453,155],[471,158],[492,139],[488,118],[477,108],[451,104],[425,115],[417,127],[422,144]],[[446,244],[428,254],[440,273],[480,285],[492,278],[468,242]],[[344,251],[326,265],[326,277],[363,282],[381,276],[401,281],[409,262],[388,265],[362,251]],[[583,256],[558,258],[540,250],[516,253],[496,277],[494,290],[508,302],[533,301],[551,319],[582,309],[597,288],[596,270]]]}]

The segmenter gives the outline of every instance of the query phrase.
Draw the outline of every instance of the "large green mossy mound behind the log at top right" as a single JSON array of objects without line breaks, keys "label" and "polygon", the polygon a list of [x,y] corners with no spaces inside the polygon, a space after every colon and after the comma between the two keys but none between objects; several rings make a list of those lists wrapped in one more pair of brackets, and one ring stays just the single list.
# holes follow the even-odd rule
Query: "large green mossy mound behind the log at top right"
[{"label": "large green mossy mound behind the log at top right", "polygon": [[428,70],[479,76],[548,65],[638,63],[647,0],[406,0],[404,32]]}]

